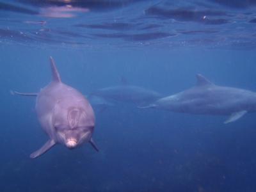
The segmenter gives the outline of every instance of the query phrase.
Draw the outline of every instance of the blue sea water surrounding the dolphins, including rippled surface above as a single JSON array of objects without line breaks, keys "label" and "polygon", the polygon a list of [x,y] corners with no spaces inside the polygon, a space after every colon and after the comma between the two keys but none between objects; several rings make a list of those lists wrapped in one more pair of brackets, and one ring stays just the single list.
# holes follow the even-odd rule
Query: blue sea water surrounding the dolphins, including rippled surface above
[{"label": "blue sea water surrounding the dolphins, including rippled surface above", "polygon": [[84,95],[124,77],[171,95],[198,73],[255,91],[255,11],[253,0],[0,1],[0,191],[256,191],[255,113],[223,124],[121,103],[95,113],[99,153],[56,145],[30,159],[47,136],[35,98],[10,94],[49,83],[49,56]]}]

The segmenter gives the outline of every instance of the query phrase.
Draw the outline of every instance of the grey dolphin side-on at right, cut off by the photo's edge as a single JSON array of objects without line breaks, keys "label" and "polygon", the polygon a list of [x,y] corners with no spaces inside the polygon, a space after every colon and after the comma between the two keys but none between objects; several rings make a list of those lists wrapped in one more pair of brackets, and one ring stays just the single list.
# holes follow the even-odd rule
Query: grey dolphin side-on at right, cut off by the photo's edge
[{"label": "grey dolphin side-on at right, cut off by the photo's edge", "polygon": [[256,111],[256,93],[239,88],[217,86],[204,76],[196,75],[197,84],[141,108],[167,109],[198,115],[230,115],[225,124],[234,122],[247,112]]}]

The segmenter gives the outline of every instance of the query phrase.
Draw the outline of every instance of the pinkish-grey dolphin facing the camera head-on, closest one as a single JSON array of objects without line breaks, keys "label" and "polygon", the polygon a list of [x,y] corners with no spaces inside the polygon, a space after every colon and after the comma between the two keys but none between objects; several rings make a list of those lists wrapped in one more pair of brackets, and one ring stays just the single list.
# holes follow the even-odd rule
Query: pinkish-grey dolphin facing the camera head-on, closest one
[{"label": "pinkish-grey dolphin facing the camera head-on, closest one", "polygon": [[36,97],[36,114],[42,129],[49,136],[49,140],[30,157],[41,156],[56,143],[71,149],[89,142],[99,151],[92,139],[95,116],[90,103],[75,88],[61,82],[52,57],[50,61],[52,81],[39,93],[12,92]]}]

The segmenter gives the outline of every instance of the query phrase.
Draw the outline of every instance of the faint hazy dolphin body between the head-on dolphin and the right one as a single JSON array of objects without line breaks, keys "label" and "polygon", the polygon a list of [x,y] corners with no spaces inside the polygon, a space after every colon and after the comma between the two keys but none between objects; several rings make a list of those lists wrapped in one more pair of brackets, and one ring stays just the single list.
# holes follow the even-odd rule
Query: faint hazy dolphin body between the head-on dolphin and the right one
[{"label": "faint hazy dolphin body between the head-on dolphin and the right one", "polygon": [[163,97],[160,93],[134,85],[109,86],[90,93],[107,100],[145,105]]}]

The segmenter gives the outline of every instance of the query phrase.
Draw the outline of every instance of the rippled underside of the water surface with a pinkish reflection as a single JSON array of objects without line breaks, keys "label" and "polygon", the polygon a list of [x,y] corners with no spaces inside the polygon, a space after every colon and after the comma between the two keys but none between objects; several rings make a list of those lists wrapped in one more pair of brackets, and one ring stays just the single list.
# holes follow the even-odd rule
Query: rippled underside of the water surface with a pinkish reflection
[{"label": "rippled underside of the water surface with a pinkish reflection", "polygon": [[82,48],[255,48],[253,1],[18,2],[0,3],[2,42]]}]

